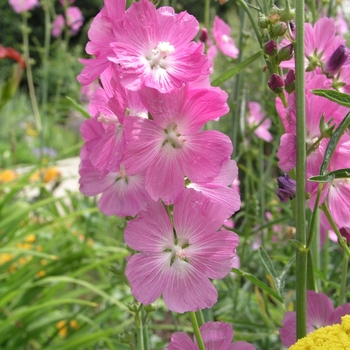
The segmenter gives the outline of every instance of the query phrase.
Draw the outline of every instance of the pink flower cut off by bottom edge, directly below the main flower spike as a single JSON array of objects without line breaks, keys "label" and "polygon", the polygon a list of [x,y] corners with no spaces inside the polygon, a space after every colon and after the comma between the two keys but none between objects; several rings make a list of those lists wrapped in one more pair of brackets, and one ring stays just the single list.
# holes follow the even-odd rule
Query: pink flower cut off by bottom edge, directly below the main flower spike
[{"label": "pink flower cut off by bottom edge, directly below the main flower spike", "polygon": [[[207,322],[200,327],[200,333],[206,349],[210,350],[254,350],[255,346],[245,341],[231,343],[233,329],[231,325],[222,322]],[[198,350],[196,339],[182,332],[172,335],[166,350]]]}]

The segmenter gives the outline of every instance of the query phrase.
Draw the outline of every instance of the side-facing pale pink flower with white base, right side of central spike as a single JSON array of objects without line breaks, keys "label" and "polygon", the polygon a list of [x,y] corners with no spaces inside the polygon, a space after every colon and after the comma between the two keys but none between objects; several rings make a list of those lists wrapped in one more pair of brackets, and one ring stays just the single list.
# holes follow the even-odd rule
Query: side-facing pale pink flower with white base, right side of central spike
[{"label": "side-facing pale pink flower with white base, right side of central spike", "polygon": [[241,207],[239,192],[229,187],[237,175],[236,162],[228,160],[222,164],[220,173],[212,181],[192,182],[187,187],[202,192],[204,196],[220,204],[226,211],[226,217],[230,217]]}]

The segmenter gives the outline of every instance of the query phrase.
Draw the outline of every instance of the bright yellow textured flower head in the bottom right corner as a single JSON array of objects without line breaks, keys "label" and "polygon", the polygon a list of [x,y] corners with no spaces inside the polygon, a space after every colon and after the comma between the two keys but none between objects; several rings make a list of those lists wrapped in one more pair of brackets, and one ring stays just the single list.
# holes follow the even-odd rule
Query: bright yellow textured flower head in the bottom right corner
[{"label": "bright yellow textured flower head in the bottom right corner", "polygon": [[322,327],[299,339],[289,350],[348,350],[350,349],[350,315],[341,324]]}]

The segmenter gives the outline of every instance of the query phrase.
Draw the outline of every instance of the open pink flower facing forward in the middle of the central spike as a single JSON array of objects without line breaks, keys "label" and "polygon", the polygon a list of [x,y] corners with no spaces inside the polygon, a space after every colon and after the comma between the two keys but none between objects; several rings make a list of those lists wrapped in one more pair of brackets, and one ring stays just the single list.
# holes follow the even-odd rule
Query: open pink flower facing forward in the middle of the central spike
[{"label": "open pink flower facing forward in the middle of the central spike", "polygon": [[230,139],[218,131],[200,130],[227,113],[227,95],[221,89],[185,86],[168,94],[143,89],[140,96],[153,120],[125,118],[124,164],[130,174],[147,169],[146,189],[152,199],[170,204],[184,189],[184,176],[210,182],[229,159]]}]

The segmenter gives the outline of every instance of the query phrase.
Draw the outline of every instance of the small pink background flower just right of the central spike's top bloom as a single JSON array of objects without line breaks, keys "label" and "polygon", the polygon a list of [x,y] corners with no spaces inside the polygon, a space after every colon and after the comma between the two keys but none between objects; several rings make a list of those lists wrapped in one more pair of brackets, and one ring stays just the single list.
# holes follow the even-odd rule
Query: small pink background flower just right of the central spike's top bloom
[{"label": "small pink background flower just right of the central spike's top bloom", "polygon": [[237,58],[239,50],[231,38],[231,28],[221,18],[215,16],[213,34],[220,51],[229,57]]}]

